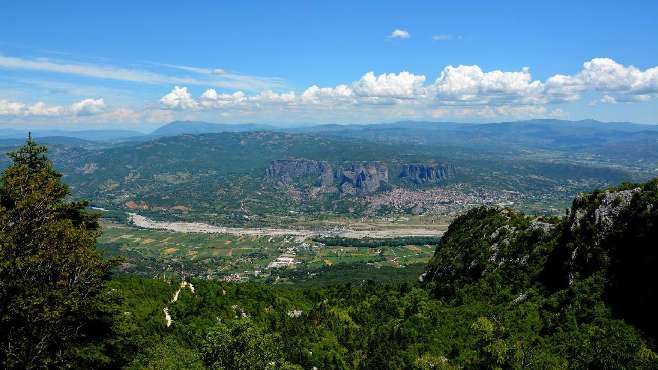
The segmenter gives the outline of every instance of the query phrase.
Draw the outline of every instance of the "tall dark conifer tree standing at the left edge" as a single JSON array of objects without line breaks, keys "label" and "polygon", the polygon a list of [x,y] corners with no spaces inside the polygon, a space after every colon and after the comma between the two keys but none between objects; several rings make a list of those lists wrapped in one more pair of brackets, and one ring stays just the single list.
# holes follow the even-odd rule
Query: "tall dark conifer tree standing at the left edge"
[{"label": "tall dark conifer tree standing at the left edge", "polygon": [[84,350],[109,333],[101,302],[116,259],[95,250],[98,215],[87,201],[64,201],[68,186],[32,138],[9,153],[0,178],[0,365],[7,369],[107,363]]}]

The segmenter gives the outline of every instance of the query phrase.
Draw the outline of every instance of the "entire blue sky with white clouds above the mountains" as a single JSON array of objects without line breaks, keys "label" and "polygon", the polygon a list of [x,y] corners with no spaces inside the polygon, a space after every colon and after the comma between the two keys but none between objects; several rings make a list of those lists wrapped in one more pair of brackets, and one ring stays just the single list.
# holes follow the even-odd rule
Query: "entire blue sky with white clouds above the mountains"
[{"label": "entire blue sky with white clouds above the mountains", "polygon": [[0,128],[658,124],[658,1],[3,1]]}]

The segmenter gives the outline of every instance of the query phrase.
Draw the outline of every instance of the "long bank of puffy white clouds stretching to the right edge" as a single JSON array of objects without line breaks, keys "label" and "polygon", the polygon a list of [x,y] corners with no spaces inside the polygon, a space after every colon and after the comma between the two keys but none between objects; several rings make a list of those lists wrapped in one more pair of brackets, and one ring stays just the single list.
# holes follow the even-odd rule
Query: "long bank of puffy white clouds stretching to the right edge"
[{"label": "long bank of puffy white clouds stretching to the right edge", "polygon": [[320,111],[390,117],[567,117],[564,109],[549,106],[576,101],[585,92],[603,92],[603,103],[649,101],[658,91],[655,70],[597,58],[574,75],[555,74],[544,81],[533,79],[528,67],[486,71],[478,65],[458,65],[443,68],[432,84],[422,74],[368,72],[351,83],[314,85],[301,93],[265,90],[247,95],[209,89],[194,98],[186,87],[176,86],[160,99],[159,107],[217,111],[221,117]]}]

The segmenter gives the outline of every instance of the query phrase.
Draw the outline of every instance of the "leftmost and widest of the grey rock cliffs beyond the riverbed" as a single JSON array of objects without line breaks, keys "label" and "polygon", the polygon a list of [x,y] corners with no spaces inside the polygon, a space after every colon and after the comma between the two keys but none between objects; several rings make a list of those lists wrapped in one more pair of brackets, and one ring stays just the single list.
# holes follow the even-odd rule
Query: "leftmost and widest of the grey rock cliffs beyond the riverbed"
[{"label": "leftmost and widest of the grey rock cliffs beyond the riverbed", "polygon": [[286,158],[272,161],[265,170],[265,176],[280,177],[284,184],[291,184],[293,178],[319,173],[317,186],[327,186],[334,177],[332,167],[324,161],[311,161],[310,159]]}]

